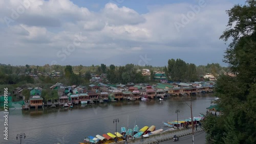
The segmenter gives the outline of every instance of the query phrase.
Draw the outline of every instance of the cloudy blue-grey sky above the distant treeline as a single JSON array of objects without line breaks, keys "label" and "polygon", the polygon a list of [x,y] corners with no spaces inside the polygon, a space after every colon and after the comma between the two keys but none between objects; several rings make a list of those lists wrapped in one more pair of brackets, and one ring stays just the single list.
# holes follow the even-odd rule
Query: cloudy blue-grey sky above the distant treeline
[{"label": "cloudy blue-grey sky above the distant treeline", "polygon": [[226,10],[238,0],[2,0],[0,63],[223,63]]}]

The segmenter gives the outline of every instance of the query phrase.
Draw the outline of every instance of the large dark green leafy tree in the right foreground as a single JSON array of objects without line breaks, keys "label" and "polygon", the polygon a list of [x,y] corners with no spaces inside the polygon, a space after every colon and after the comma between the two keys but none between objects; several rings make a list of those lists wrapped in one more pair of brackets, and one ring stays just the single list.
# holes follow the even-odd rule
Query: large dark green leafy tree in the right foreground
[{"label": "large dark green leafy tree in the right foreground", "polygon": [[[206,140],[207,143],[213,140],[218,143],[256,143],[256,1],[235,5],[227,14],[228,28],[220,39],[232,39],[224,62],[237,77],[221,76],[217,81],[215,91],[221,99],[218,105],[223,114],[218,118],[206,116]],[[209,128],[212,120],[219,123],[214,130]]]}]

